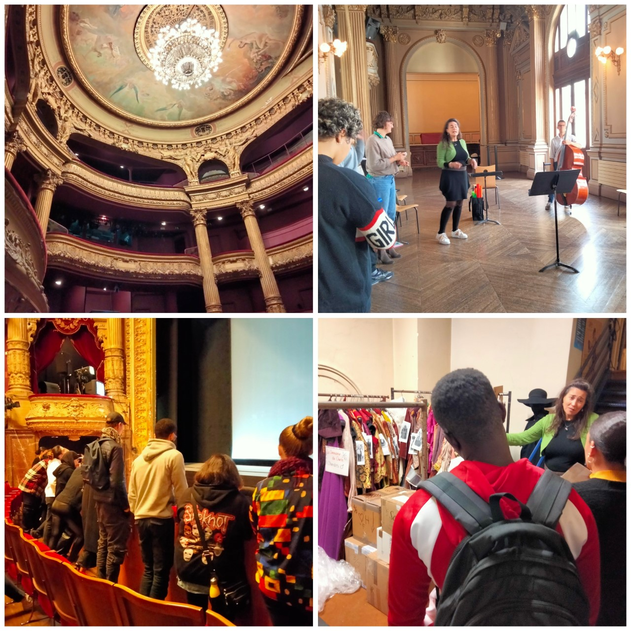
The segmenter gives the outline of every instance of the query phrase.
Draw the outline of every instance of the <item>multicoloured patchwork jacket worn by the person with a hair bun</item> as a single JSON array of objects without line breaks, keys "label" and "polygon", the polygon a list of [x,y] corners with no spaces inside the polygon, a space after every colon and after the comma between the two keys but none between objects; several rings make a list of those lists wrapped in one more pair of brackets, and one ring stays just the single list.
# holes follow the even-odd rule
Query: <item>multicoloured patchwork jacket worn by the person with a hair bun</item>
[{"label": "multicoloured patchwork jacket worn by the person with a hair bun", "polygon": [[257,535],[256,582],[264,596],[313,610],[313,463],[278,461],[257,484],[250,519]]}]

